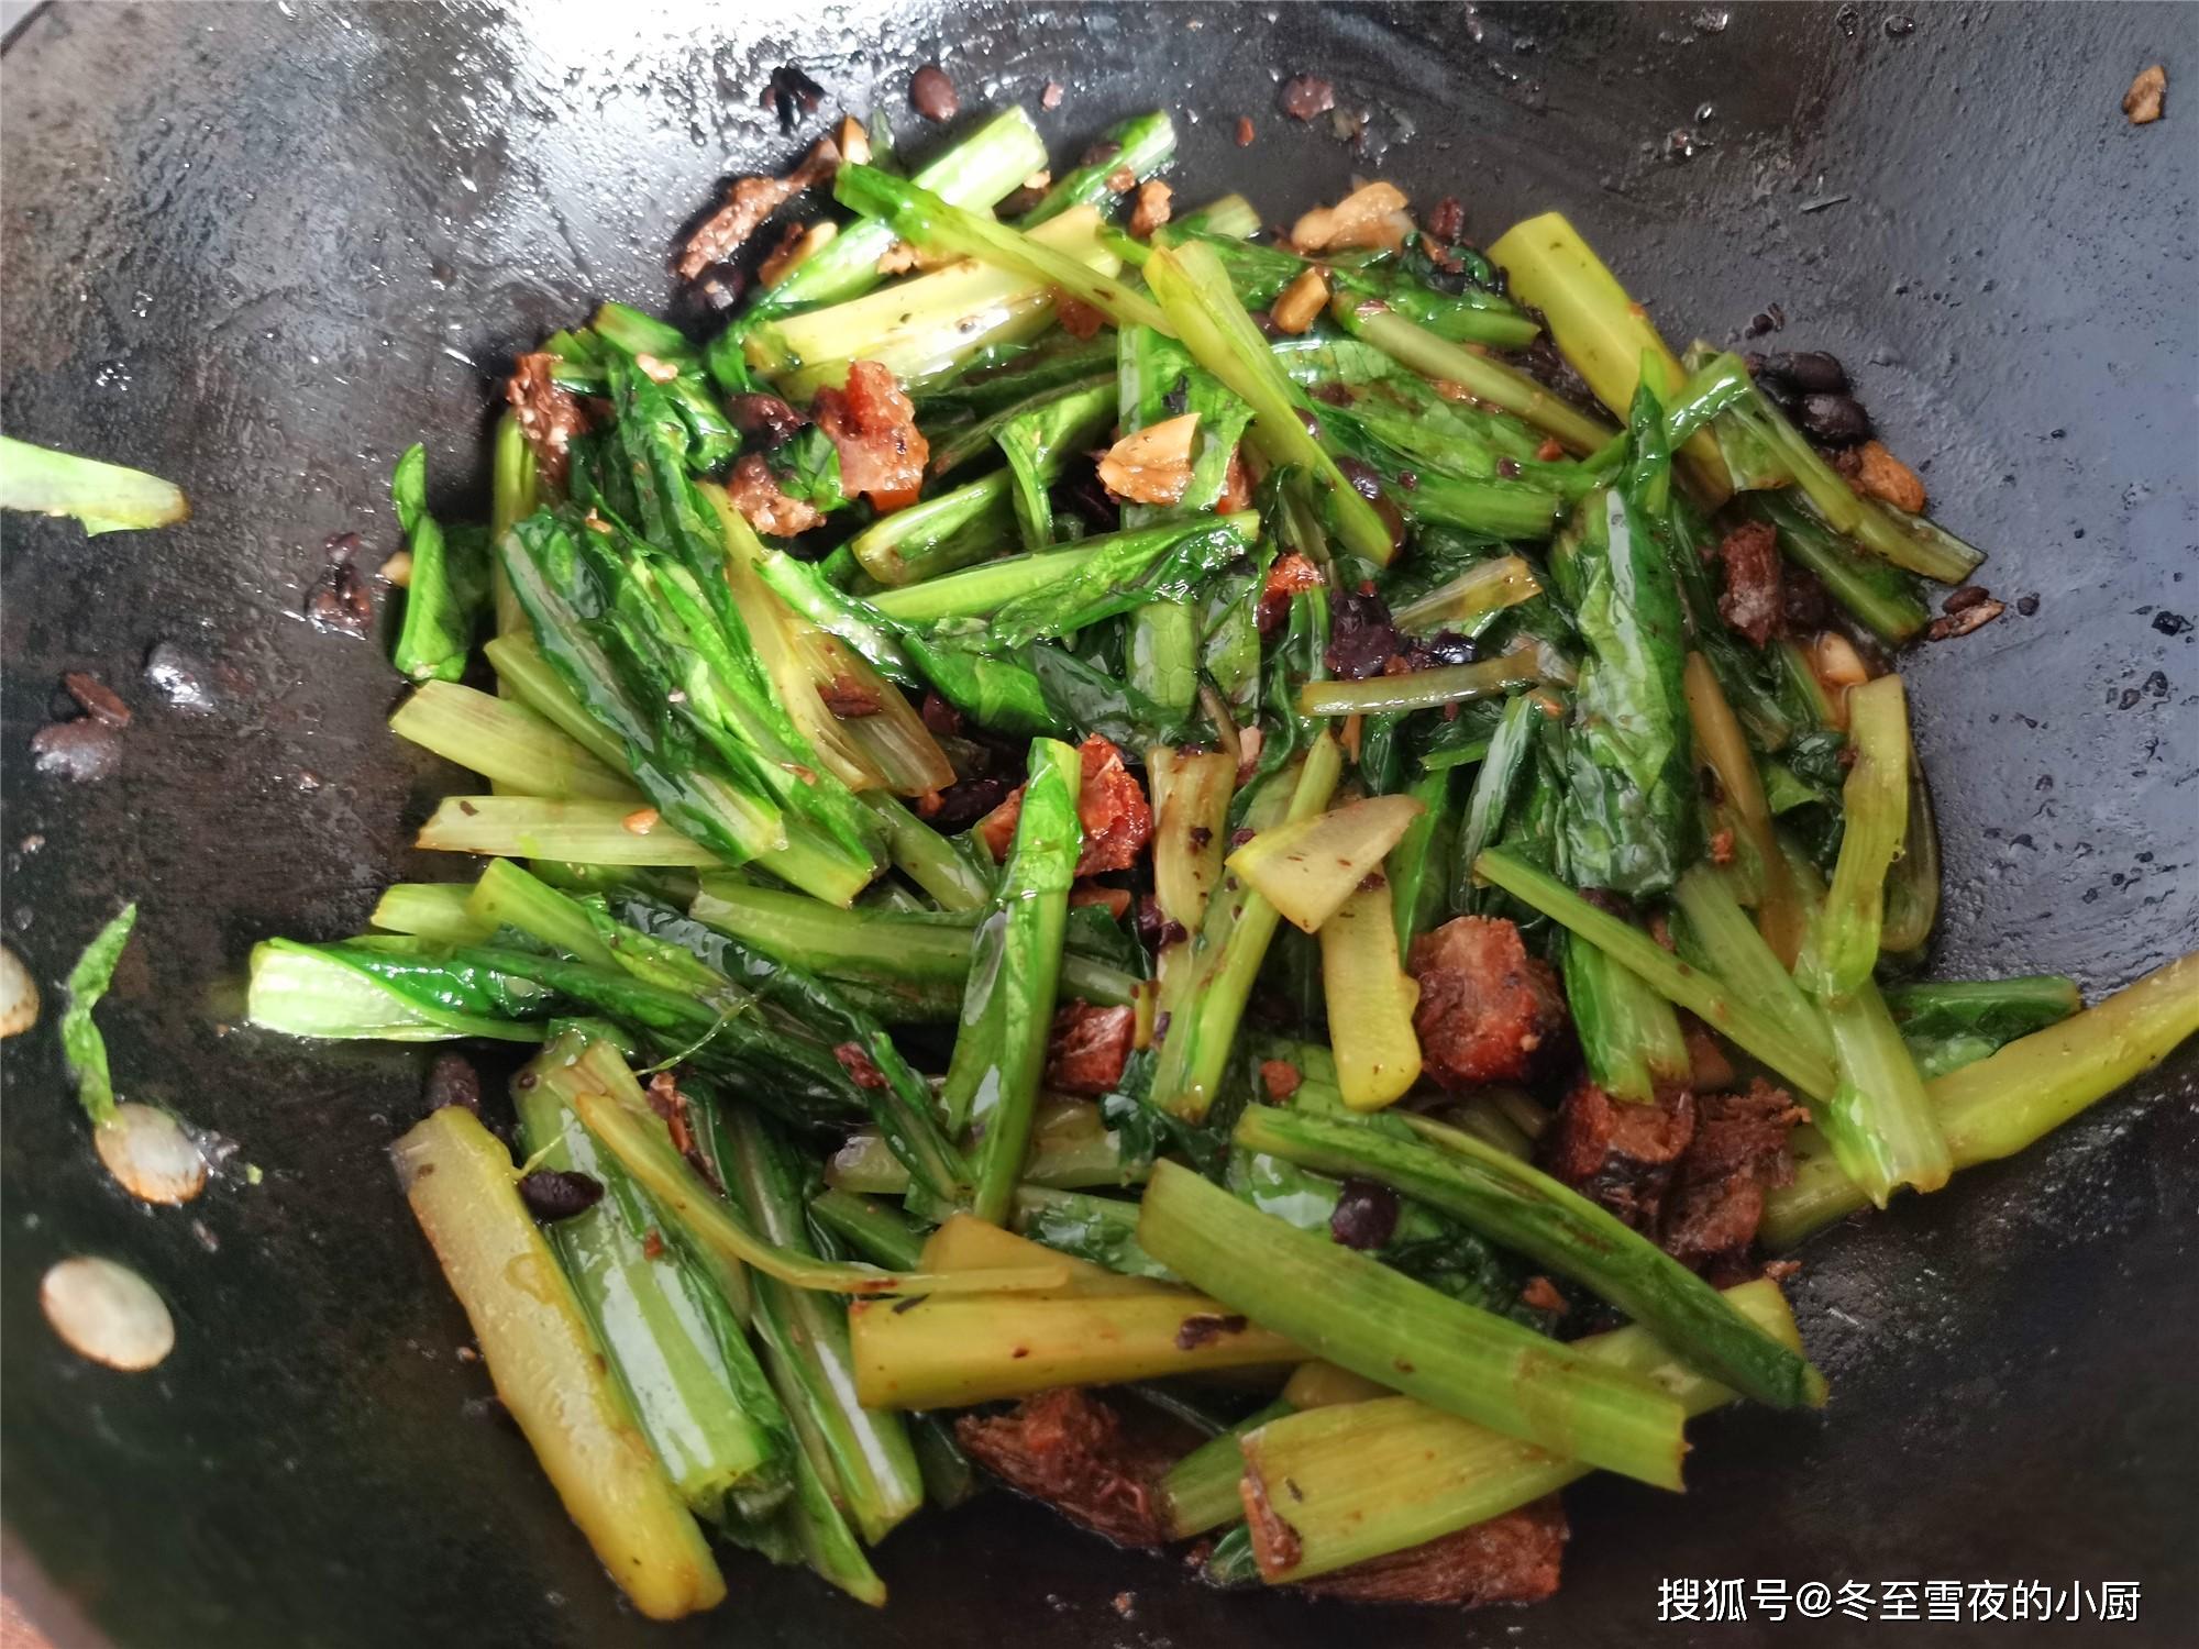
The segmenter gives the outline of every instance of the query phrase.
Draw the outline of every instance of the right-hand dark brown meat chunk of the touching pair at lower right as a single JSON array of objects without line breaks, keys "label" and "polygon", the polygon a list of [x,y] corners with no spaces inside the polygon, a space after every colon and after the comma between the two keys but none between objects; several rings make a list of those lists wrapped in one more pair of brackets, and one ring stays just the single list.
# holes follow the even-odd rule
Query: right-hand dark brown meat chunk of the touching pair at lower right
[{"label": "right-hand dark brown meat chunk of the touching pair at lower right", "polygon": [[1748,1093],[1700,1095],[1695,1137],[1665,1198],[1658,1233],[1665,1251],[1720,1286],[1746,1280],[1764,1194],[1794,1178],[1788,1137],[1808,1117],[1783,1088],[1761,1077]]}]

